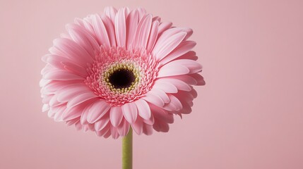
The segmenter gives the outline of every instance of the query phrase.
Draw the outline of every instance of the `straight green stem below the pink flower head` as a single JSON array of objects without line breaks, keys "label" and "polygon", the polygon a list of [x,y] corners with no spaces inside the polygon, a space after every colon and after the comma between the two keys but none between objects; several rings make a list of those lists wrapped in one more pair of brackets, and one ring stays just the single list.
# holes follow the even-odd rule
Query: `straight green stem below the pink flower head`
[{"label": "straight green stem below the pink flower head", "polygon": [[133,130],[129,128],[129,133],[122,139],[122,169],[133,168]]}]

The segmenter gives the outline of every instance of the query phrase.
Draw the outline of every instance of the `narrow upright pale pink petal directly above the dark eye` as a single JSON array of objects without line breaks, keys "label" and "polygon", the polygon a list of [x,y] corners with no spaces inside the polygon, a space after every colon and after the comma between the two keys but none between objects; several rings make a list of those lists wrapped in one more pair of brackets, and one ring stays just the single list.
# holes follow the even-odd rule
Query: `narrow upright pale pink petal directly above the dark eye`
[{"label": "narrow upright pale pink petal directly above the dark eye", "polygon": [[114,20],[118,46],[126,46],[126,22],[124,8],[120,8]]}]

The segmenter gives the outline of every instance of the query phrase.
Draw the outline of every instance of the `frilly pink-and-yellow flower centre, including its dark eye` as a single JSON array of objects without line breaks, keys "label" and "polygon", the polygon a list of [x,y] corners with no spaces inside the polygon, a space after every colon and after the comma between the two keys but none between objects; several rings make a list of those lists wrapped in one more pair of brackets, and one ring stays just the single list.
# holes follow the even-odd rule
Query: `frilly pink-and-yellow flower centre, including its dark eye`
[{"label": "frilly pink-and-yellow flower centre, including its dark eye", "polygon": [[104,49],[88,67],[85,84],[114,106],[135,101],[150,91],[158,73],[158,64],[145,51],[122,47]]}]

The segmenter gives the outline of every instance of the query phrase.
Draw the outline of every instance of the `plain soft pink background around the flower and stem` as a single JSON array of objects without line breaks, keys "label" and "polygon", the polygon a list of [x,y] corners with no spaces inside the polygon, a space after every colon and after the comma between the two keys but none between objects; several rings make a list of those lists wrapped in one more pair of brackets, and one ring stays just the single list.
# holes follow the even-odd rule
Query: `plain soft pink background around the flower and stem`
[{"label": "plain soft pink background around the flower and stem", "polygon": [[192,27],[205,87],[168,133],[134,136],[134,168],[302,169],[303,1],[0,1],[0,168],[121,168],[121,139],[41,113],[40,70],[73,18],[143,6]]}]

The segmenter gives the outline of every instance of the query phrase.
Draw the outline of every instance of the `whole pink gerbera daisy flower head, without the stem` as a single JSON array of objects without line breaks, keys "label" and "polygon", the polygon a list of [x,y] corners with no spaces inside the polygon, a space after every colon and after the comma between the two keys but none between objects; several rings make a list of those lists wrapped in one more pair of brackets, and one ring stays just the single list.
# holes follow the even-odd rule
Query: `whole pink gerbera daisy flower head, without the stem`
[{"label": "whole pink gerbera daisy flower head, without the stem", "polygon": [[193,31],[161,22],[143,8],[107,7],[66,25],[54,40],[42,70],[43,111],[50,118],[124,137],[167,132],[174,114],[191,112],[205,84],[201,65],[187,40]]}]

